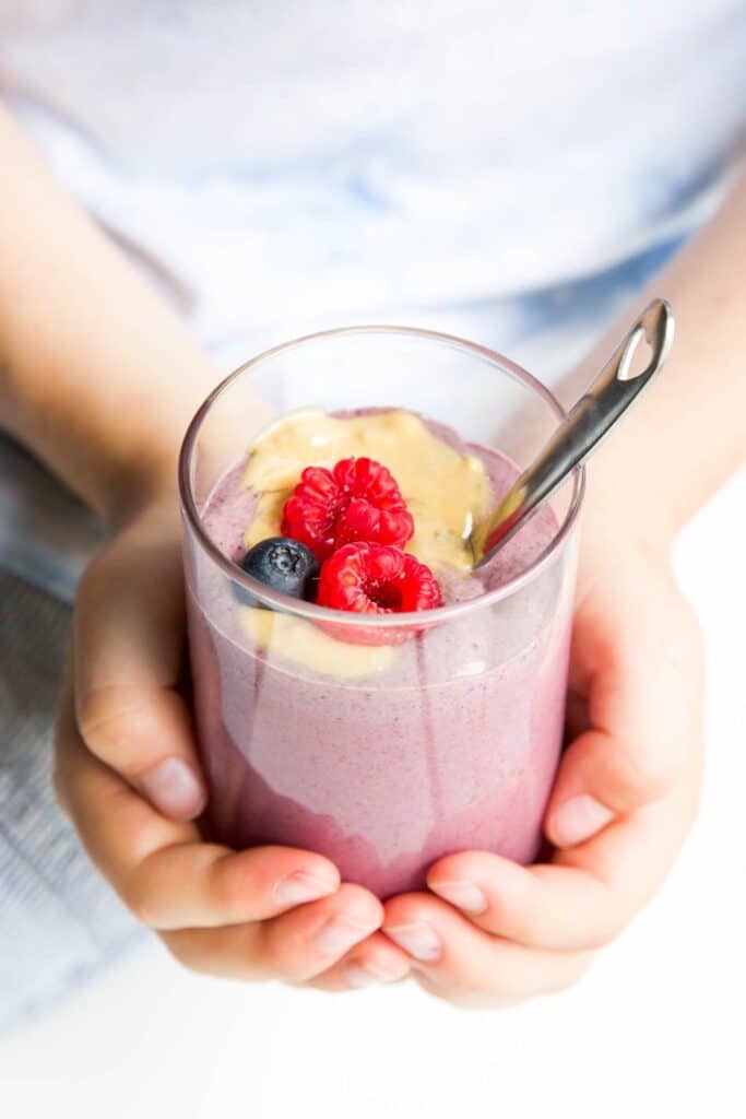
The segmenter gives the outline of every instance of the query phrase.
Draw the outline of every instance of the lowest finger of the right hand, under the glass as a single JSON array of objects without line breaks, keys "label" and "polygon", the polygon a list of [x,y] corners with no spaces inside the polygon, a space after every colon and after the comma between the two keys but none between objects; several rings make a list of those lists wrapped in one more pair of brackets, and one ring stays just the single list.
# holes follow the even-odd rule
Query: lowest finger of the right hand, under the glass
[{"label": "lowest finger of the right hand, under the glass", "polygon": [[530,998],[574,984],[589,953],[525,948],[476,929],[445,902],[403,894],[386,903],[384,932],[442,991]]}]

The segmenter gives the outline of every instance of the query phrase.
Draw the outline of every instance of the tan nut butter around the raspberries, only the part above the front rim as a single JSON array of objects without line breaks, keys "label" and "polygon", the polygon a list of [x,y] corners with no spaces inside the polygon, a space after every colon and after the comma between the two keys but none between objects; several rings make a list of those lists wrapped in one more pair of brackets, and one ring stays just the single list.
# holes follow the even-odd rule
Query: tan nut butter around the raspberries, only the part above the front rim
[{"label": "tan nut butter around the raspberries, only the part above the front rim", "polygon": [[406,551],[435,574],[444,565],[470,571],[468,539],[490,505],[484,464],[476,455],[460,454],[400,408],[344,417],[309,408],[259,435],[244,472],[244,483],[262,495],[246,547],[280,535],[283,506],[305,467],[331,469],[340,459],[362,455],[381,462],[398,482],[415,519]]}]

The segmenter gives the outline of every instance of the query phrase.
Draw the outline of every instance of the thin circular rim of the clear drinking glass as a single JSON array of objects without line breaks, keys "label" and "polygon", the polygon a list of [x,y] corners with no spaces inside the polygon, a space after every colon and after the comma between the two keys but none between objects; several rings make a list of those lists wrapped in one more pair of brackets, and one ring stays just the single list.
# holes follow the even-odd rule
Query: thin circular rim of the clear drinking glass
[{"label": "thin circular rim of the clear drinking glass", "polygon": [[498,354],[497,350],[491,350],[487,346],[480,346],[478,342],[471,342],[465,338],[459,338],[456,335],[442,333],[437,330],[427,330],[419,327],[397,327],[388,325],[334,327],[329,330],[318,330],[313,333],[302,335],[299,338],[292,338],[290,341],[281,342],[277,346],[263,350],[261,354],[249,358],[247,361],[244,361],[243,365],[239,365],[236,369],[224,377],[223,380],[220,380],[211,393],[209,393],[209,395],[202,401],[192,416],[189,426],[187,427],[181,443],[181,449],[179,451],[179,498],[181,501],[182,513],[198,544],[208,555],[210,561],[216,564],[228,579],[233,580],[233,582],[237,583],[239,586],[243,586],[253,598],[257,599],[265,605],[273,606],[284,613],[306,618],[310,621],[324,623],[332,622],[336,627],[341,628],[349,626],[350,629],[375,628],[387,630],[412,628],[416,630],[425,630],[442,622],[461,618],[479,609],[494,605],[495,603],[501,602],[502,600],[508,599],[512,594],[522,590],[540,574],[540,572],[549,564],[550,560],[560,549],[561,545],[567,540],[577,521],[580,506],[583,504],[583,496],[585,493],[585,469],[583,466],[575,467],[573,470],[573,493],[557,532],[553,535],[547,546],[539,553],[536,560],[533,560],[528,567],[520,572],[520,574],[508,580],[506,583],[502,583],[494,590],[487,591],[484,594],[480,594],[476,598],[466,599],[462,602],[453,602],[444,606],[436,606],[433,610],[409,613],[358,614],[351,611],[348,612],[343,610],[332,610],[329,606],[319,606],[313,602],[306,602],[303,599],[294,599],[290,595],[271,590],[271,587],[268,587],[265,583],[261,583],[252,575],[248,575],[242,567],[238,566],[238,564],[228,560],[220,548],[218,548],[202,525],[197,502],[192,493],[189,467],[191,464],[191,459],[202,423],[207,419],[218,397],[220,397],[235,380],[237,380],[244,373],[258,365],[261,361],[264,361],[270,357],[274,357],[275,354],[280,354],[283,350],[301,346],[304,342],[318,341],[323,338],[342,337],[344,335],[366,333],[404,335],[405,337],[419,338],[446,345],[454,349],[465,350],[475,357],[488,360],[491,365],[495,366],[499,372],[507,374],[514,380],[520,382],[526,388],[539,396],[544,403],[549,406],[550,411],[555,413],[558,422],[561,422],[567,414],[555,394],[547,388],[546,385],[541,384],[541,382],[538,380],[532,374],[517,365],[516,361],[511,361],[510,358],[504,357],[502,354]]}]

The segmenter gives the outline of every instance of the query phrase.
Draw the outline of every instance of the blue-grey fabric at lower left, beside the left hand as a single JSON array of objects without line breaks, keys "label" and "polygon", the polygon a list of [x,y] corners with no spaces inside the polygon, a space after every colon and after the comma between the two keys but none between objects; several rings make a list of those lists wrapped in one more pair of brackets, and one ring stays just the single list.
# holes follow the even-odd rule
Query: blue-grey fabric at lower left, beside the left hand
[{"label": "blue-grey fabric at lower left, beside the left hand", "polygon": [[0,571],[0,1032],[143,933],[81,849],[50,784],[69,608]]}]

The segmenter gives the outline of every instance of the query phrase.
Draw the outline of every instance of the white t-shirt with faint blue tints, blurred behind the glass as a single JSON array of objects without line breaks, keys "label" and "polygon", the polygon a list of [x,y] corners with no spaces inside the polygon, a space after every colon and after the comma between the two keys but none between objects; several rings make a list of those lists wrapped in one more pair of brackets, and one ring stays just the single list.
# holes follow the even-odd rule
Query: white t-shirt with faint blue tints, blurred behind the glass
[{"label": "white t-shirt with faint blue tints, blurred behind the glass", "polygon": [[746,120],[746,6],[6,0],[2,87],[220,341],[541,291],[686,234]]}]

